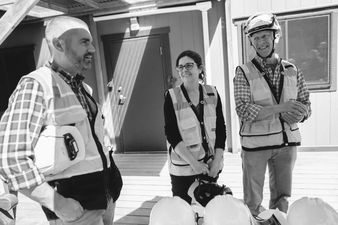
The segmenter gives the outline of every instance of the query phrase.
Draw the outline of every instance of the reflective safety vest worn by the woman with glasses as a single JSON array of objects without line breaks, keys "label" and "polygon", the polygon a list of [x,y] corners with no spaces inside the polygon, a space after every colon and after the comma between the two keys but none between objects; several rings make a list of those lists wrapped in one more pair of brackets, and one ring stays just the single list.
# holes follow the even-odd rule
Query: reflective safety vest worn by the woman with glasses
[{"label": "reflective safety vest worn by the woman with glasses", "polygon": [[[216,106],[217,91],[214,86],[201,85],[200,91],[203,91],[203,101],[200,104],[200,113],[203,112],[203,120],[200,121],[192,109],[192,103],[189,103],[182,91],[183,84],[169,89],[169,94],[174,106],[179,133],[188,150],[198,161],[210,164],[211,156],[215,155],[216,140]],[[186,91],[185,91],[186,93]],[[187,96],[187,94],[186,94]],[[203,135],[204,134],[204,135]],[[206,143],[207,151],[204,150],[202,143]],[[196,175],[192,167],[183,160],[172,148],[167,140],[168,148],[168,167],[169,172],[176,176]],[[223,156],[220,170],[223,168]]]}]

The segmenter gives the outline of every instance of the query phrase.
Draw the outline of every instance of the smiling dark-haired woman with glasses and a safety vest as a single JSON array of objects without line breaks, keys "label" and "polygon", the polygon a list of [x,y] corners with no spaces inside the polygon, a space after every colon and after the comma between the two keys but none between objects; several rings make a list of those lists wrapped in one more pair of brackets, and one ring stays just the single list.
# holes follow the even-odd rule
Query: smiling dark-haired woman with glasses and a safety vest
[{"label": "smiling dark-haired woman with glasses and a safety vest", "polygon": [[173,196],[191,204],[188,190],[196,178],[215,182],[222,171],[226,127],[216,87],[201,84],[201,56],[184,51],[175,68],[183,84],[165,93],[168,167]]}]

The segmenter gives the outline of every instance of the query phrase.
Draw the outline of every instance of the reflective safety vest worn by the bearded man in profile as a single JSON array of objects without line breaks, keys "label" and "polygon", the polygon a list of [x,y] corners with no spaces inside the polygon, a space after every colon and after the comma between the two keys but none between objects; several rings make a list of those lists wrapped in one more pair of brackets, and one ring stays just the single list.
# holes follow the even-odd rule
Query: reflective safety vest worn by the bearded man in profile
[{"label": "reflective safety vest worn by the bearded man in profile", "polygon": [[46,104],[46,117],[43,126],[72,124],[80,132],[85,146],[83,160],[62,172],[46,176],[46,181],[102,171],[104,164],[110,167],[109,149],[103,144],[104,119],[99,105],[91,96],[92,89],[83,82],[83,85],[80,86],[80,88],[84,88],[93,112],[93,119],[90,122],[71,87],[52,69],[44,66],[22,77],[22,79],[25,78],[37,80],[43,88]]}]

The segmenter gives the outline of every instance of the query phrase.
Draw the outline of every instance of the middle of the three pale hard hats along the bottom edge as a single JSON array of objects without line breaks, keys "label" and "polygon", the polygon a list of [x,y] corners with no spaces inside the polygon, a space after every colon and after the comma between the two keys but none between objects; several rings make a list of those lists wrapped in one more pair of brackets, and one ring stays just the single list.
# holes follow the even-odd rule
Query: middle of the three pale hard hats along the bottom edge
[{"label": "middle of the three pale hard hats along the bottom edge", "polygon": [[204,225],[250,225],[250,213],[232,195],[217,195],[204,210]]}]

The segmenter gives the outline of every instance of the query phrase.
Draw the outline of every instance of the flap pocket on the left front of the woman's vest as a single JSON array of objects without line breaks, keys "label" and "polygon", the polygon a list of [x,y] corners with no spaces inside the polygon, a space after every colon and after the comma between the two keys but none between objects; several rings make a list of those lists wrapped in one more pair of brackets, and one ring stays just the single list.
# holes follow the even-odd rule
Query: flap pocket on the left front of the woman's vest
[{"label": "flap pocket on the left front of the woman's vest", "polygon": [[182,140],[186,146],[200,143],[196,120],[194,117],[179,121]]}]

